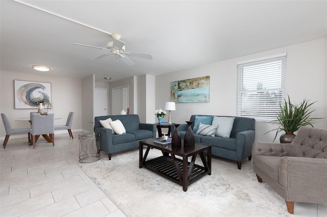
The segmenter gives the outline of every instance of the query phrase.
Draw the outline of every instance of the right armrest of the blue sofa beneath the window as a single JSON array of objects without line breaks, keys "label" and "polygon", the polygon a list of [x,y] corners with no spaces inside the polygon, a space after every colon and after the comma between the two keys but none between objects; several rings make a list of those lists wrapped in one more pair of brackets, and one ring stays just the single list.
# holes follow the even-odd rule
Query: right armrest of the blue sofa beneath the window
[{"label": "right armrest of the blue sofa beneath the window", "polygon": [[245,130],[236,134],[236,155],[238,161],[242,161],[252,154],[254,138],[254,130]]}]

